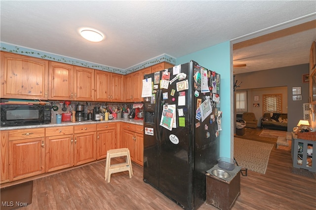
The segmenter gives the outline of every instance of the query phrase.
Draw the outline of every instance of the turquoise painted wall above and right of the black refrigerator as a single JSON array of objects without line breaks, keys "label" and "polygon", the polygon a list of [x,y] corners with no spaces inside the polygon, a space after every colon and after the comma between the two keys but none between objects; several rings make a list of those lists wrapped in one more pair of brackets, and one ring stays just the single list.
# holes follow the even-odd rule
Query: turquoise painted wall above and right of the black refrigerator
[{"label": "turquoise painted wall above and right of the black refrigerator", "polygon": [[231,157],[233,151],[233,134],[231,130],[232,111],[234,109],[231,99],[232,78],[231,76],[231,47],[230,41],[217,44],[212,47],[177,58],[176,65],[196,61],[202,67],[215,71],[221,75],[220,83],[220,109],[223,111],[222,131],[220,131],[220,156]]}]

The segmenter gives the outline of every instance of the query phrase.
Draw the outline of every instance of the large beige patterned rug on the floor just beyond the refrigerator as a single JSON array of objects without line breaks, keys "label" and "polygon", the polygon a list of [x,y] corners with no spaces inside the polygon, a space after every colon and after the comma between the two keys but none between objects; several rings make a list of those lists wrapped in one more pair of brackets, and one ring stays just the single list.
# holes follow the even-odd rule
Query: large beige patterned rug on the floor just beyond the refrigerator
[{"label": "large beige patterned rug on the floor just beyond the refrigerator", "polygon": [[271,143],[234,138],[234,158],[241,168],[265,174],[273,147]]}]

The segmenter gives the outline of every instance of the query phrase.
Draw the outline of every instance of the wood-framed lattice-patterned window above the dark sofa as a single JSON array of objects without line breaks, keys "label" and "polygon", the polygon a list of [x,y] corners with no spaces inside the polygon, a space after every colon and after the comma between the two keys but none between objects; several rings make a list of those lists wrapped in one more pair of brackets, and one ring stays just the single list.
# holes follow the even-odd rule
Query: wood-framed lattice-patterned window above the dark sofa
[{"label": "wood-framed lattice-patterned window above the dark sofa", "polygon": [[282,94],[262,95],[263,113],[282,113]]}]

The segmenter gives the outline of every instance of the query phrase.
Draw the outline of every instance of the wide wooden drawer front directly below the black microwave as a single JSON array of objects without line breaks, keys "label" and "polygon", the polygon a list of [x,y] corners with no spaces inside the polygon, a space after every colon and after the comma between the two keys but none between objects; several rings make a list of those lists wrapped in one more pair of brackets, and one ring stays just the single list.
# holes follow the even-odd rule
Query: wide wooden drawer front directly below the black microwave
[{"label": "wide wooden drawer front directly below the black microwave", "polygon": [[24,140],[45,136],[44,128],[19,129],[9,131],[9,140]]}]

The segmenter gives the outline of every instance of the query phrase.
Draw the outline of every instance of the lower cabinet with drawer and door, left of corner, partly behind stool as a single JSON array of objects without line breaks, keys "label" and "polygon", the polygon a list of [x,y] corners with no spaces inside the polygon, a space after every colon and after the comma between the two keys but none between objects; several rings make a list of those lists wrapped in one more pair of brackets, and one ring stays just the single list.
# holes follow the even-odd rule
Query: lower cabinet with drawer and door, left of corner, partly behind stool
[{"label": "lower cabinet with drawer and door, left of corner, partly behind stool", "polygon": [[117,148],[117,125],[97,124],[97,160],[106,158],[109,149]]}]

